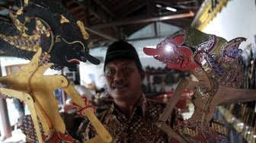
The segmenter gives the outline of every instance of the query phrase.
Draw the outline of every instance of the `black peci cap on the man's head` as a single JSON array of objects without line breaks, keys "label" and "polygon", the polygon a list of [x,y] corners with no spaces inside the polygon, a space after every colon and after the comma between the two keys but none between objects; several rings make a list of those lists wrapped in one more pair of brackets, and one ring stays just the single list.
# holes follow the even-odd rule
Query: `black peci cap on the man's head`
[{"label": "black peci cap on the man's head", "polygon": [[130,43],[127,43],[123,40],[119,40],[108,46],[104,61],[104,71],[107,63],[116,59],[133,60],[136,63],[138,69],[142,69],[142,64],[139,61],[139,56],[138,53],[136,52],[136,49]]}]

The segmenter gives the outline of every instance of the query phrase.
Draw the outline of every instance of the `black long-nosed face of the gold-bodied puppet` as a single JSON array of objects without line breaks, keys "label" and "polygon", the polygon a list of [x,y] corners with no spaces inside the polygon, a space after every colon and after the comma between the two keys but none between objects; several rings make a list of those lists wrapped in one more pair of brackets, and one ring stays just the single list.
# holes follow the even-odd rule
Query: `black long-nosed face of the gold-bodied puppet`
[{"label": "black long-nosed face of the gold-bodied puppet", "polygon": [[[80,23],[81,24],[81,23]],[[72,24],[70,22],[64,22],[59,31],[59,42],[53,46],[53,57],[54,63],[64,65],[71,70],[76,68],[79,62],[87,62],[87,60],[95,65],[100,62],[98,59],[89,55],[89,49],[87,46],[84,26],[78,24]]]}]

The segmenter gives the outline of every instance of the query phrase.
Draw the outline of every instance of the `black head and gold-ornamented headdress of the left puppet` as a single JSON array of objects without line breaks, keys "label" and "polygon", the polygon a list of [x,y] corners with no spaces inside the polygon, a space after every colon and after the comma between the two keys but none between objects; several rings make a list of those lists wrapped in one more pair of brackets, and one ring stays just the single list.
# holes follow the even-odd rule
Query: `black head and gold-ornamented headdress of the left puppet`
[{"label": "black head and gold-ornamented headdress of the left puppet", "polygon": [[75,21],[58,2],[30,0],[10,16],[14,24],[0,23],[0,45],[12,56],[32,59],[42,48],[54,63],[52,68],[76,70],[78,61],[100,63],[88,53],[88,33],[82,21]]}]

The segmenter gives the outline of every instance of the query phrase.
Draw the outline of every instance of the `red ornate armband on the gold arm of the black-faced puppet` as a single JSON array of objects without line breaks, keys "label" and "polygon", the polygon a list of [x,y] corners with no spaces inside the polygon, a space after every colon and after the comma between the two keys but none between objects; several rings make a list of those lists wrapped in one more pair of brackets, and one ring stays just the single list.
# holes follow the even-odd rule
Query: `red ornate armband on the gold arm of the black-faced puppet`
[{"label": "red ornate armband on the gold arm of the black-faced puppet", "polygon": [[82,116],[86,118],[85,116],[85,110],[91,110],[93,113],[96,113],[95,107],[92,106],[91,102],[88,100],[88,97],[83,94],[82,95],[83,100],[85,101],[85,107],[79,106],[78,104],[71,101],[71,105],[75,108],[79,116]]}]

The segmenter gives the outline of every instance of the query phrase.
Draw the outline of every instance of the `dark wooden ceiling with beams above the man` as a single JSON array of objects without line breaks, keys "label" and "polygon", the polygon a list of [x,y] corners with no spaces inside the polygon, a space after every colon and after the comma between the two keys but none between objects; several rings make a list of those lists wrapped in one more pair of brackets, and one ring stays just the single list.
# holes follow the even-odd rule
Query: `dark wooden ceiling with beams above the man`
[{"label": "dark wooden ceiling with beams above the man", "polygon": [[[181,28],[190,27],[203,1],[59,0],[77,20],[84,22],[90,35],[91,48],[107,45],[115,40],[126,40],[131,34],[157,21]],[[2,0],[0,8],[8,8],[15,5],[15,2],[20,0]],[[168,8],[174,9],[170,11]],[[1,14],[0,12],[1,19],[8,18]],[[158,37],[156,24],[155,37]]]}]

